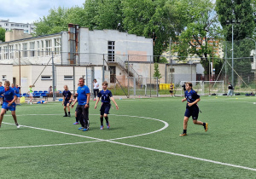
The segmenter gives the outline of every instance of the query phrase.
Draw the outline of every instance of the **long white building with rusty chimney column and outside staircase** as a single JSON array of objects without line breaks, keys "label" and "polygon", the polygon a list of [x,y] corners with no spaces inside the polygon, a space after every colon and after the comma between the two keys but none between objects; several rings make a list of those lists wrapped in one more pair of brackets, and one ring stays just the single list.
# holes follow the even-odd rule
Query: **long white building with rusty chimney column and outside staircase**
[{"label": "long white building with rusty chimney column and outside staircase", "polygon": [[[12,36],[15,37],[15,34]],[[88,73],[80,68],[82,73],[84,72],[84,78],[97,78],[99,83],[102,80],[116,83],[118,80],[120,84],[127,85],[128,72],[129,76],[138,75],[129,64],[130,61],[153,61],[152,43],[151,38],[138,37],[127,32],[90,31],[88,28],[70,24],[68,32],[0,43],[0,64],[15,65],[13,78],[17,83],[22,78],[26,78],[23,81],[30,85],[38,77],[37,83],[44,84],[44,89],[40,87],[40,90],[45,90],[45,86],[52,85],[50,66],[45,70],[47,74],[40,74],[44,69],[42,65],[51,65],[52,58],[55,66],[62,66],[56,70],[57,89],[62,89],[66,80],[77,78],[77,75],[69,74],[72,68],[65,70],[64,66],[84,66],[86,69],[90,67]],[[19,64],[25,71],[19,70],[17,67]],[[130,66],[129,70],[127,70],[128,66]],[[21,71],[20,76],[17,71]],[[81,74],[79,75],[81,77]]]}]

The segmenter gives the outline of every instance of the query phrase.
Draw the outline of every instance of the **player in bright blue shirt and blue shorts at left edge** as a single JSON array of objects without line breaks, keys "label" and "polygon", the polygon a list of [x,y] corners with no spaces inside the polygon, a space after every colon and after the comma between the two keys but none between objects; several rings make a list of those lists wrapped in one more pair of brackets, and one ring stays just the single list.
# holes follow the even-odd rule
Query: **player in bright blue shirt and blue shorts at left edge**
[{"label": "player in bright blue shirt and blue shorts at left edge", "polygon": [[12,116],[15,120],[15,124],[17,128],[20,128],[20,125],[17,122],[16,113],[15,113],[15,108],[16,108],[15,100],[17,99],[17,96],[15,94],[15,90],[12,90],[9,86],[10,86],[9,81],[5,81],[4,89],[0,90],[0,95],[3,95],[3,106],[0,114],[0,127],[3,121],[4,113],[6,112],[7,109],[9,109],[9,111],[11,111]]}]

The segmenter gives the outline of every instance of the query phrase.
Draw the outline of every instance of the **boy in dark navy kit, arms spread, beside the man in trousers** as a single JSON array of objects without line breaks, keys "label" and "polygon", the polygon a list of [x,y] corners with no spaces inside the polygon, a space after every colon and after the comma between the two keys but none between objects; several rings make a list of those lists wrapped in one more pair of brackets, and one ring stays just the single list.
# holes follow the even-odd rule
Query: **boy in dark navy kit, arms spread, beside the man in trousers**
[{"label": "boy in dark navy kit, arms spread, beside the man in trousers", "polygon": [[100,99],[102,98],[102,107],[101,107],[101,130],[103,130],[104,128],[104,125],[103,125],[103,117],[105,118],[106,120],[106,124],[107,124],[107,128],[109,129],[110,127],[110,124],[109,124],[109,121],[108,121],[108,113],[109,113],[109,110],[110,110],[110,107],[111,107],[111,104],[110,104],[110,100],[113,101],[116,109],[119,109],[119,106],[117,105],[117,103],[114,101],[113,99],[113,95],[111,93],[110,90],[107,89],[108,88],[108,82],[103,82],[102,83],[102,89],[99,93],[98,93],[98,99],[96,101],[96,105],[95,105],[95,109],[97,107],[97,104],[98,102],[100,101]]}]

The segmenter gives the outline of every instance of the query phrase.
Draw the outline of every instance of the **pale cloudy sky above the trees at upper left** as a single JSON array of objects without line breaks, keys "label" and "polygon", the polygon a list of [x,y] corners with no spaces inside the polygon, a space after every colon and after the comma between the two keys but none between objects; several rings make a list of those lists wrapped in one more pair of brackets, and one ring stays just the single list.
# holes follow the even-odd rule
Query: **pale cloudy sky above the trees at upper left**
[{"label": "pale cloudy sky above the trees at upper left", "polygon": [[0,20],[32,23],[49,14],[49,9],[83,6],[85,0],[0,0]]}]

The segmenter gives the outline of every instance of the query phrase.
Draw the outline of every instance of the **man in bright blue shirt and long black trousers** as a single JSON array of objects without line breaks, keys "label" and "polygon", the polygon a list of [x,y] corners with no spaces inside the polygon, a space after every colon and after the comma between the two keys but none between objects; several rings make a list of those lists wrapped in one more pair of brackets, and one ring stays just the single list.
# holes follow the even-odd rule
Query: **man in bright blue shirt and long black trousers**
[{"label": "man in bright blue shirt and long black trousers", "polygon": [[73,106],[77,101],[79,104],[76,108],[77,118],[79,118],[81,127],[79,130],[89,130],[89,101],[90,101],[90,90],[84,85],[84,78],[79,78],[79,88],[77,90],[78,96],[73,102]]}]

